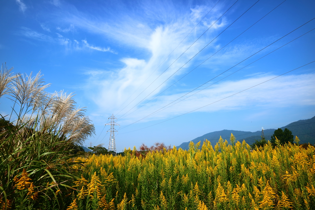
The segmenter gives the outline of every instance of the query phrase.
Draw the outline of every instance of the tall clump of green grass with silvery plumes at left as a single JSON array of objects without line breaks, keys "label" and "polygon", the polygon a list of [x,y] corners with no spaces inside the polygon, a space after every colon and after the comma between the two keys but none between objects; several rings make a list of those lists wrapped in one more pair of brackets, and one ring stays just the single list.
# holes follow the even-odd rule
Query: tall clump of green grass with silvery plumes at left
[{"label": "tall clump of green grass with silvery plumes at left", "polygon": [[73,148],[94,125],[72,94],[46,92],[40,72],[11,71],[2,65],[0,72],[0,102],[4,96],[12,102],[11,113],[1,116],[0,208],[64,209],[78,179],[72,171],[81,163]]}]

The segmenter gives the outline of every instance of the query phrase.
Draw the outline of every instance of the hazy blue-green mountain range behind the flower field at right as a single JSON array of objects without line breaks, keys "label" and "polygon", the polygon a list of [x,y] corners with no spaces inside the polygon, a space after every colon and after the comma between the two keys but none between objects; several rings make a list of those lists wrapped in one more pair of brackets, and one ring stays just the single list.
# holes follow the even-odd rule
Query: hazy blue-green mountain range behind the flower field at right
[{"label": "hazy blue-green mountain range behind the flower field at right", "polygon": [[[299,120],[296,122],[292,122],[281,129],[284,130],[284,128],[288,128],[290,131],[292,131],[292,134],[295,136],[298,136],[301,140],[300,144],[303,143],[315,143],[315,116],[311,119],[307,120]],[[275,129],[267,129],[264,130],[265,139],[270,140],[270,137],[274,133]],[[242,142],[243,140],[246,141],[249,145],[253,144],[255,142],[255,139],[261,139],[261,131],[256,132],[249,132],[249,131],[236,131],[236,130],[221,130],[221,131],[215,131],[211,133],[204,134],[203,136],[199,136],[196,139],[193,139],[192,142],[198,143],[201,141],[201,145],[203,144],[204,139],[208,139],[212,146],[215,146],[216,143],[219,141],[220,136],[222,139],[226,139],[228,142],[230,142],[230,136],[231,133],[235,136],[236,140]],[[181,145],[179,145],[180,148],[183,150],[188,150],[188,145],[190,142],[184,142]]]}]

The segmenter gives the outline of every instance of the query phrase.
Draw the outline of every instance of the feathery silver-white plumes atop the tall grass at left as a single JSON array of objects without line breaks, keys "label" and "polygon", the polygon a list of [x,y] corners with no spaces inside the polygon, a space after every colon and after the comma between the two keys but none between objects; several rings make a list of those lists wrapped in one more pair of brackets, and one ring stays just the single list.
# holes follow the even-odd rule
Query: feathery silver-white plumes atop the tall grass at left
[{"label": "feathery silver-white plumes atop the tall grass at left", "polygon": [[[1,93],[11,96],[10,99],[14,102],[12,111],[17,116],[16,126],[24,125],[28,129],[54,133],[60,140],[75,144],[82,144],[95,133],[94,125],[85,116],[84,107],[76,107],[72,93],[47,93],[45,88],[50,84],[44,85],[40,72],[35,77],[32,77],[32,73],[29,76],[11,76],[11,70],[3,69],[1,79],[6,83],[3,86],[5,91],[1,89]],[[21,132],[25,130],[23,128]]]}]

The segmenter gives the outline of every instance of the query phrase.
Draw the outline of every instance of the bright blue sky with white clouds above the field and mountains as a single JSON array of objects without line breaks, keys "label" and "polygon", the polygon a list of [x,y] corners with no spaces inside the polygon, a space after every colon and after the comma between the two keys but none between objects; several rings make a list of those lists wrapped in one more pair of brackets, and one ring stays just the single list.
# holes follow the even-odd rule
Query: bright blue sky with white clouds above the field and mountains
[{"label": "bright blue sky with white clouds above the field and mountains", "polygon": [[[315,2],[217,2],[2,1],[0,60],[13,66],[14,72],[41,70],[45,81],[51,83],[49,92],[75,92],[77,105],[87,107],[96,128],[95,137],[86,144],[108,147],[109,134],[105,136],[105,131],[109,127],[103,128],[114,114],[121,125],[116,136],[118,152],[141,143],[180,145],[222,129],[254,132],[313,117],[315,62],[223,98],[315,60],[315,30],[310,31],[315,28]],[[193,95],[148,116],[185,94],[181,99]],[[6,114],[10,104],[1,100],[0,112]]]}]

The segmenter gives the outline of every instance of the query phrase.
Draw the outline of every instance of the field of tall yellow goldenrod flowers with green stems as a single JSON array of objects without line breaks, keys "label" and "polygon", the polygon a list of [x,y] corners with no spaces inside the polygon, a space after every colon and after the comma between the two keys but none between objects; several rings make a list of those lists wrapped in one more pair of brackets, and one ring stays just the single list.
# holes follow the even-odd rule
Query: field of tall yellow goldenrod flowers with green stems
[{"label": "field of tall yellow goldenrod flowers with green stems", "polygon": [[230,143],[82,157],[68,210],[314,209],[314,147]]}]

